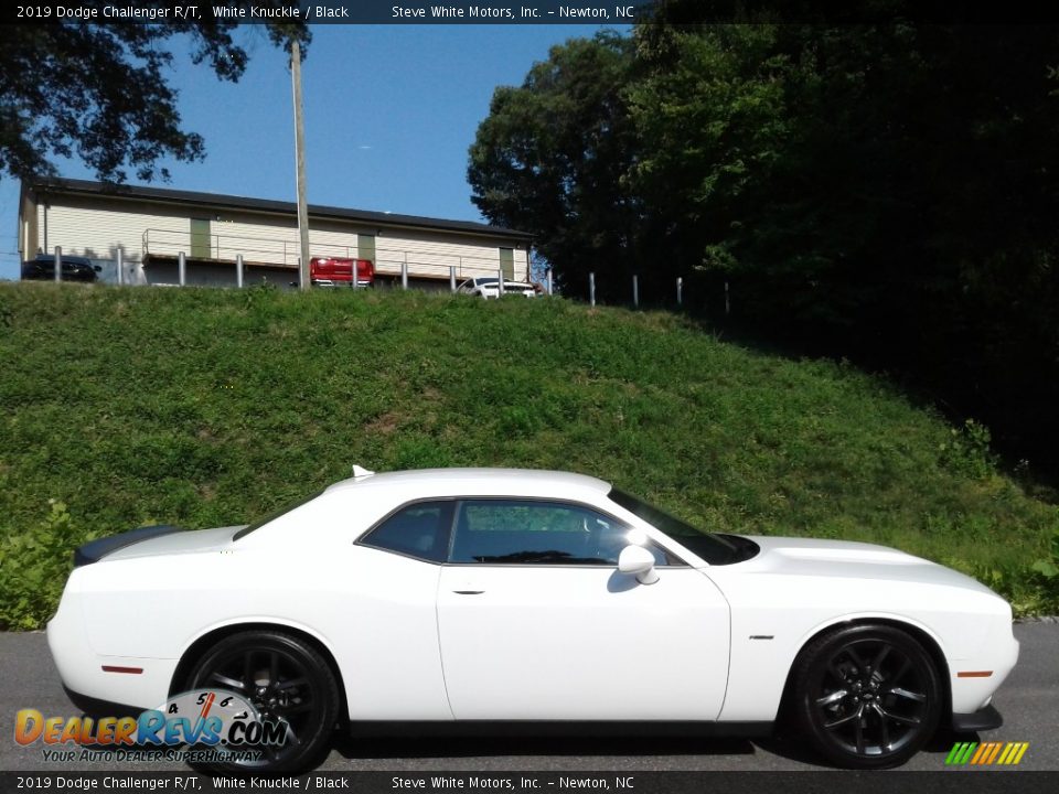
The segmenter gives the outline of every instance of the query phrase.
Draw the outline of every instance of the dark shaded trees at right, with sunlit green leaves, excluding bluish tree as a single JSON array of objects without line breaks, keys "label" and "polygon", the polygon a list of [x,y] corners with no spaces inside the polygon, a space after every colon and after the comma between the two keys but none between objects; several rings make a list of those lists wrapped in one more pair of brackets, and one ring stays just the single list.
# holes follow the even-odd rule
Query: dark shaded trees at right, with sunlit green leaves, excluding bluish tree
[{"label": "dark shaded trees at right, with sunlit green leaves, excluding bluish tree", "polygon": [[1059,463],[1059,28],[687,21],[628,89],[659,249]]}]

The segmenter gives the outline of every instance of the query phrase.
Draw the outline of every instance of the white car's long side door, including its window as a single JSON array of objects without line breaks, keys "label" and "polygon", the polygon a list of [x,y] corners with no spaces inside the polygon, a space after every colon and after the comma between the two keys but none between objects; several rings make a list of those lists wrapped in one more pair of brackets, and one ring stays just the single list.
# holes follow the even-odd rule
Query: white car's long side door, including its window
[{"label": "white car's long side door, including its window", "polygon": [[[657,582],[618,571],[630,541]],[[724,597],[587,505],[459,501],[438,630],[456,719],[714,720],[724,701]]]}]

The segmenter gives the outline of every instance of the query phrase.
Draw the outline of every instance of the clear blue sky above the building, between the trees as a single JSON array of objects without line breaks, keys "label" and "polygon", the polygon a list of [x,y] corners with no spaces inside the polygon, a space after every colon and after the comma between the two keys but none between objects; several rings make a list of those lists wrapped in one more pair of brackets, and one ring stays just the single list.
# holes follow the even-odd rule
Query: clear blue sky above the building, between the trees
[{"label": "clear blue sky above the building, between the trees", "polygon": [[[314,25],[302,66],[310,204],[481,221],[470,201],[467,150],[499,85],[520,85],[548,49],[596,25]],[[237,84],[178,57],[185,129],[206,140],[201,163],[171,163],[178,190],[295,200],[287,56],[260,28]],[[174,40],[174,45],[179,45]],[[176,49],[174,46],[174,49]],[[94,179],[75,161],[64,176]],[[0,181],[0,279],[19,277],[19,183]]]}]

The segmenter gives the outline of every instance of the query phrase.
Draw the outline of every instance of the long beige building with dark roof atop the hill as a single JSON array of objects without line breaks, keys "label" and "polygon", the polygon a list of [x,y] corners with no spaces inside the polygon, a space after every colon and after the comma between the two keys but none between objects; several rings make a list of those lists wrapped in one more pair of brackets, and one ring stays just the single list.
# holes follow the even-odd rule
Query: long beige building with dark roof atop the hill
[{"label": "long beige building with dark roof atop the hill", "polygon": [[[309,206],[310,255],[371,259],[379,285],[400,281],[447,289],[474,276],[530,280],[531,237],[467,221]],[[23,259],[52,254],[92,259],[104,281],[175,285],[185,257],[185,283],[290,287],[298,281],[298,223],[292,202],[106,185],[83,180],[22,184],[19,250]]]}]

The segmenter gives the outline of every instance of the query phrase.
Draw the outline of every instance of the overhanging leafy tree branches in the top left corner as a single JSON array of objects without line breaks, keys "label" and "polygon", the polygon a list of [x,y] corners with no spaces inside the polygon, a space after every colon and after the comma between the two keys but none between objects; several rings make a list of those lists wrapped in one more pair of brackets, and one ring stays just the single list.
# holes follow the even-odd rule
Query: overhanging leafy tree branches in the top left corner
[{"label": "overhanging leafy tree branches in the top left corner", "polygon": [[[103,0],[86,3],[101,10]],[[156,3],[141,3],[141,7]],[[165,3],[157,3],[159,7]],[[247,3],[249,4],[249,3]],[[272,0],[255,6],[297,6]],[[233,39],[236,22],[165,19],[157,23],[85,24],[81,21],[4,25],[0,31],[0,174],[53,176],[51,158],[77,157],[100,180],[168,179],[158,161],[203,159],[204,141],[181,129],[176,92],[163,75],[171,46],[190,41],[194,63],[236,82],[247,64]],[[101,15],[100,15],[101,18]],[[268,24],[269,39],[290,51],[308,44],[301,22]]]}]

